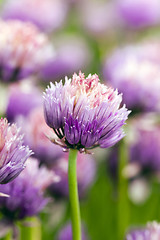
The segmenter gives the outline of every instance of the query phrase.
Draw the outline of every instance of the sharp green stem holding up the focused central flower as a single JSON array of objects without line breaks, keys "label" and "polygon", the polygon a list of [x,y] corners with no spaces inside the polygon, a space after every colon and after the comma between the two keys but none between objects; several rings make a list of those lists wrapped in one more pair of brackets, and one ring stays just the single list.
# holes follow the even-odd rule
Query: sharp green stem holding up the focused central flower
[{"label": "sharp green stem holding up the focused central flower", "polygon": [[77,150],[70,149],[68,165],[69,199],[72,219],[72,239],[81,240],[81,220],[77,185]]}]

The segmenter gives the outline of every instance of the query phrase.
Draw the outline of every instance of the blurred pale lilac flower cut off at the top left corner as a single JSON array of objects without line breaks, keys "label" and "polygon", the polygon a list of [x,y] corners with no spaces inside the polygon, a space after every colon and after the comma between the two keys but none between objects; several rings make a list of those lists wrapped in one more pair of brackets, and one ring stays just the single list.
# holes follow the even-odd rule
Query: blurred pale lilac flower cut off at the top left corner
[{"label": "blurred pale lilac flower cut off at the top left corner", "polygon": [[50,32],[61,27],[66,19],[68,6],[64,0],[8,0],[2,17],[32,22],[42,31]]}]

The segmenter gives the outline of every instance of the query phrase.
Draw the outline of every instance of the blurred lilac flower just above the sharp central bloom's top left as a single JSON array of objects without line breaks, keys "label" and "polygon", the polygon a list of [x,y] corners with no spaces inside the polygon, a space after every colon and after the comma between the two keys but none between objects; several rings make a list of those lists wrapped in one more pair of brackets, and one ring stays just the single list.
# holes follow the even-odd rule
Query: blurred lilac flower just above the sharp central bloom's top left
[{"label": "blurred lilac flower just above the sharp central bloom's top left", "polygon": [[89,65],[91,53],[81,37],[62,35],[54,44],[57,54],[42,69],[44,81],[61,79]]}]

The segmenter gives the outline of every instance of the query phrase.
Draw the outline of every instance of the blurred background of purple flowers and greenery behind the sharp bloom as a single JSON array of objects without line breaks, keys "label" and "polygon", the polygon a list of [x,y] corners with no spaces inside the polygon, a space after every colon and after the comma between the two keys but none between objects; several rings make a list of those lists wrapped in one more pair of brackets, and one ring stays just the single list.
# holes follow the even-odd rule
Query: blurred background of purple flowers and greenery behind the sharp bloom
[{"label": "blurred background of purple flowers and greenery behind the sharp bloom", "polygon": [[[49,187],[45,186],[43,193],[48,203],[40,208],[40,199],[37,200],[37,195],[31,199],[33,194],[27,188],[26,195],[30,196],[27,209],[33,205],[34,211],[23,212],[26,195],[18,205],[23,192],[20,190],[13,193],[11,202],[0,200],[0,229],[5,229],[1,239],[12,239],[12,232],[15,239],[23,240],[72,239],[68,225],[68,155],[44,135],[50,129],[43,117],[42,96],[50,81],[71,77],[79,71],[86,76],[96,73],[102,83],[118,89],[123,94],[123,104],[132,111],[125,126],[126,137],[117,146],[96,149],[93,155],[79,154],[84,240],[125,239],[130,229],[159,221],[160,1],[0,3],[0,114],[21,127],[25,143],[34,151],[31,161],[38,162],[33,168],[45,166],[57,178]],[[7,29],[10,21],[15,20],[22,24],[24,33],[12,35],[16,27]],[[37,47],[36,42],[25,48],[26,39],[19,40],[21,34],[29,33],[25,25],[28,22],[37,31],[33,38],[32,33],[28,35],[29,41],[34,42],[36,35],[41,34],[38,41],[45,38],[43,46]],[[24,65],[17,60],[21,55],[27,56]],[[38,175],[36,172],[33,183],[39,181]],[[8,189],[16,189],[18,182],[23,181],[20,176]],[[10,191],[6,190],[7,185],[0,186],[0,191]],[[45,184],[40,185],[40,190],[44,190]],[[19,209],[23,217],[17,216]]]}]

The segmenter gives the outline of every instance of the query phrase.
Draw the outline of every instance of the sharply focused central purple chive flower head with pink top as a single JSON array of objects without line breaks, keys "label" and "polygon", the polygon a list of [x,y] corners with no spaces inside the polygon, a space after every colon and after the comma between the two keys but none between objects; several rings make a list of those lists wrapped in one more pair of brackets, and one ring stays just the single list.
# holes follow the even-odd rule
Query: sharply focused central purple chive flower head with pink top
[{"label": "sharply focused central purple chive flower head with pink top", "polygon": [[44,94],[46,123],[65,149],[83,152],[100,146],[108,148],[124,137],[122,126],[129,111],[120,108],[122,96],[101,84],[98,76],[74,74],[65,84],[51,83]]}]

